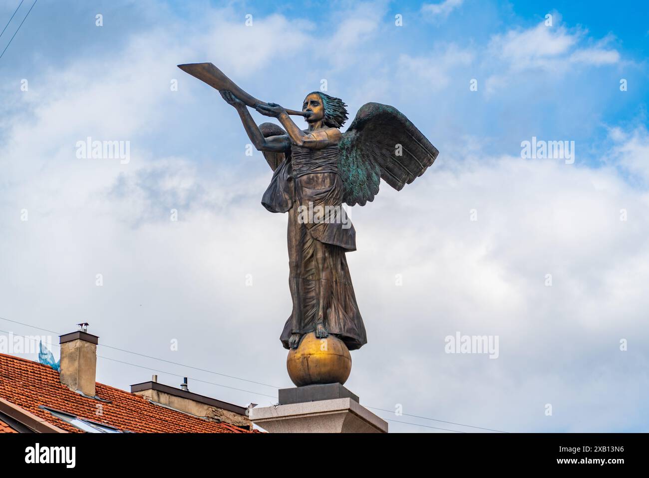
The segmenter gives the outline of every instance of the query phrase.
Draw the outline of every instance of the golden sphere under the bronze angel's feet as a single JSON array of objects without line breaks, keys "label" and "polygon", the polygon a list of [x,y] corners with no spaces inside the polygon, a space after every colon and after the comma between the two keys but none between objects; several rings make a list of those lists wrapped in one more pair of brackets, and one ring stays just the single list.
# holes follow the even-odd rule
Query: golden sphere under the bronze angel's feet
[{"label": "golden sphere under the bronze angel's feet", "polygon": [[352,356],[336,336],[317,338],[310,332],[302,336],[297,349],[289,350],[286,368],[296,386],[344,384],[352,371]]}]

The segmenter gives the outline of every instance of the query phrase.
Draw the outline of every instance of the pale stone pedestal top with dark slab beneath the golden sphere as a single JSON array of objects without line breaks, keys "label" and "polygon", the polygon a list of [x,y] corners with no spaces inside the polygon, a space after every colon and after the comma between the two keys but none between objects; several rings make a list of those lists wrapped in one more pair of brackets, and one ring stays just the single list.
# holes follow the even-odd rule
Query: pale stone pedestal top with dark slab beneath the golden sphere
[{"label": "pale stone pedestal top with dark slab beneath the golden sphere", "polygon": [[276,407],[254,407],[252,423],[269,433],[387,433],[387,421],[339,383],[283,388]]}]

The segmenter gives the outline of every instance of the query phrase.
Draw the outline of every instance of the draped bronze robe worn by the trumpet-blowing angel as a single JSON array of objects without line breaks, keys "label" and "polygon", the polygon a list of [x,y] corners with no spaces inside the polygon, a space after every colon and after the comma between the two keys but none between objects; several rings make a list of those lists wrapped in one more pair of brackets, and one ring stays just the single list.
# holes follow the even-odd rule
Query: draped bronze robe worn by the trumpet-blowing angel
[{"label": "draped bronze robe worn by the trumpet-blowing angel", "polygon": [[[263,194],[262,205],[267,210],[289,214],[293,310],[280,336],[287,349],[291,334],[315,331],[319,310],[328,333],[341,338],[348,349],[367,344],[345,257],[347,251],[356,250],[356,231],[341,212],[343,183],[337,162],[337,145],[308,149],[293,144],[291,157],[275,170]],[[337,215],[319,216],[319,211],[327,210]]]}]

